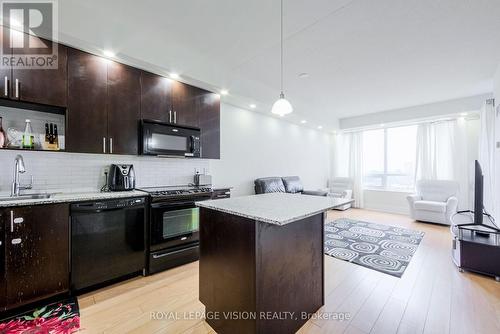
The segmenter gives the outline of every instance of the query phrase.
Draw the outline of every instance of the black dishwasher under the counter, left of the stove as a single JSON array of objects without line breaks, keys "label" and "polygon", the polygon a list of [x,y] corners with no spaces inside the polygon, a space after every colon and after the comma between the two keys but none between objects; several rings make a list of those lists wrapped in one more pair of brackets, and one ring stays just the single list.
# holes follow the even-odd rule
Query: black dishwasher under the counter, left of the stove
[{"label": "black dishwasher under the counter, left of the stove", "polygon": [[144,274],[145,198],[71,205],[71,289]]}]

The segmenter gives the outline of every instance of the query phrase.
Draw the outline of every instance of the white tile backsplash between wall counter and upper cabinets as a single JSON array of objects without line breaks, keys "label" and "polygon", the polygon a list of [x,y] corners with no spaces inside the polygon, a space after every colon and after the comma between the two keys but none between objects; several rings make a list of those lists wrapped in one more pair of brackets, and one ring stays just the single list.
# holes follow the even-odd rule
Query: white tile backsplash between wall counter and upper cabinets
[{"label": "white tile backsplash between wall counter and upper cabinets", "polygon": [[0,193],[10,192],[14,159],[21,154],[26,173],[21,183],[34,177],[33,191],[96,191],[104,184],[104,170],[113,163],[133,164],[136,187],[186,185],[193,182],[195,171],[209,173],[209,161],[63,152],[30,152],[0,149]]}]

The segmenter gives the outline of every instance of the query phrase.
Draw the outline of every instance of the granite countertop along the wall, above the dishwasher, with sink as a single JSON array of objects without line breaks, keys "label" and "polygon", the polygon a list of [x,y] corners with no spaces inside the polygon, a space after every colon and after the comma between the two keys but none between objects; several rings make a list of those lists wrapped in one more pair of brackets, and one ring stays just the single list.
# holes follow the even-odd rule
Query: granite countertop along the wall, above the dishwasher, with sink
[{"label": "granite countertop along the wall, above the dishwasher, with sink", "polygon": [[[50,198],[37,198],[37,199],[12,198],[9,200],[3,200],[0,201],[0,208],[25,206],[25,205],[84,202],[84,201],[127,198],[127,197],[141,197],[141,196],[148,196],[148,194],[139,190],[117,191],[117,192],[96,191],[96,192],[54,193]],[[4,196],[1,197],[3,199]]]}]

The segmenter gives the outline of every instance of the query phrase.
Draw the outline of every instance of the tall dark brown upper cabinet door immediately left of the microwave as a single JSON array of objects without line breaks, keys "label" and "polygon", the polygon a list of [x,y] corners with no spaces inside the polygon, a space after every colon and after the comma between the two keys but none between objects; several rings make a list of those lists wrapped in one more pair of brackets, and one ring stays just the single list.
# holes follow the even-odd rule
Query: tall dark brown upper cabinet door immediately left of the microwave
[{"label": "tall dark brown upper cabinet door immediately left of the microwave", "polygon": [[141,72],[116,62],[108,63],[109,153],[138,154]]}]

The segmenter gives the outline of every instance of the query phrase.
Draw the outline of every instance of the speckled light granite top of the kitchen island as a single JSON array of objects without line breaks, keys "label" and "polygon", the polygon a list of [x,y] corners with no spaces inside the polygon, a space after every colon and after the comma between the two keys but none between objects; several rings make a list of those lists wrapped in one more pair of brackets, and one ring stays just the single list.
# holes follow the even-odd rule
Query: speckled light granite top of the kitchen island
[{"label": "speckled light granite top of the kitchen island", "polygon": [[271,193],[202,201],[196,205],[269,224],[286,225],[351,202],[342,198]]}]

